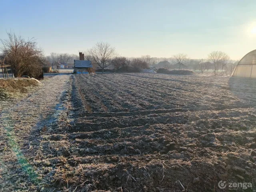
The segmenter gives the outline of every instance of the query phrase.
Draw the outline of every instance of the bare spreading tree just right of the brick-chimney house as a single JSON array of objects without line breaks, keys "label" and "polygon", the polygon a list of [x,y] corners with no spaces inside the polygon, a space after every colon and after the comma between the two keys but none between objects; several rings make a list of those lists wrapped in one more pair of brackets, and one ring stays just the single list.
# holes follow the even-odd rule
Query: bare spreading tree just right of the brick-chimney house
[{"label": "bare spreading tree just right of the brick-chimney house", "polygon": [[116,57],[116,49],[111,47],[108,42],[98,42],[86,53],[92,57],[92,62],[102,69],[102,73],[104,73],[104,68],[113,64]]}]

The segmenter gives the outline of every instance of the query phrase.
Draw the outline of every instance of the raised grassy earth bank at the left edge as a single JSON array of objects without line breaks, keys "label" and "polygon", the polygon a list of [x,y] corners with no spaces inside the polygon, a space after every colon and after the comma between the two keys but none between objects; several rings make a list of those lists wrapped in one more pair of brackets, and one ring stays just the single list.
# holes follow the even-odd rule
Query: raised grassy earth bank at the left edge
[{"label": "raised grassy earth bank at the left edge", "polygon": [[32,78],[0,79],[0,99],[22,97],[38,84],[39,82]]}]

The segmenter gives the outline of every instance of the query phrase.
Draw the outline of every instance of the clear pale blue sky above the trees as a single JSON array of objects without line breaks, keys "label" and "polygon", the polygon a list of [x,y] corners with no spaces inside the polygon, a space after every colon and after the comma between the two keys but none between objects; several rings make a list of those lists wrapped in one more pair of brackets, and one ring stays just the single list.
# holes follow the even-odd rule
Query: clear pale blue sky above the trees
[{"label": "clear pale blue sky above the trees", "polygon": [[46,55],[78,54],[109,42],[122,56],[205,58],[222,50],[240,59],[256,49],[255,0],[0,0],[6,30],[35,37]]}]

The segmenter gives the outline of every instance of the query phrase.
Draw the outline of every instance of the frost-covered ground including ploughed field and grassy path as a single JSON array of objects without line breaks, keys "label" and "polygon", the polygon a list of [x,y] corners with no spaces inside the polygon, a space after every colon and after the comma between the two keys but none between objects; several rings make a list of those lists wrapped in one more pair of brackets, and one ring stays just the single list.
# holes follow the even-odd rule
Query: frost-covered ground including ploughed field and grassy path
[{"label": "frost-covered ground including ploughed field and grassy path", "polygon": [[[2,189],[256,188],[256,80],[163,74],[54,76],[1,114]],[[242,191],[242,188],[238,188]]]}]

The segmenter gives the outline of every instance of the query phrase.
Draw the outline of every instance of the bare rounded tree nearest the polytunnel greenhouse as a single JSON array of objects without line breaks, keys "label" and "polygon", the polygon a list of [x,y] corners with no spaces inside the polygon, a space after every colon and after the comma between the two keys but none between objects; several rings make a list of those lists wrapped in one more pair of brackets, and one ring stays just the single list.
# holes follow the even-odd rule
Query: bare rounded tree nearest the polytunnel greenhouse
[{"label": "bare rounded tree nearest the polytunnel greenhouse", "polygon": [[222,69],[224,67],[224,62],[229,59],[228,54],[222,51],[213,51],[208,54],[208,59],[214,64],[214,75],[216,76],[218,73],[218,69],[220,64],[222,64]]}]

